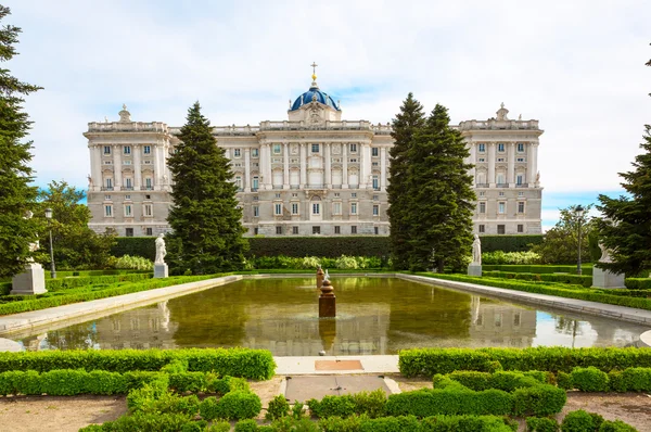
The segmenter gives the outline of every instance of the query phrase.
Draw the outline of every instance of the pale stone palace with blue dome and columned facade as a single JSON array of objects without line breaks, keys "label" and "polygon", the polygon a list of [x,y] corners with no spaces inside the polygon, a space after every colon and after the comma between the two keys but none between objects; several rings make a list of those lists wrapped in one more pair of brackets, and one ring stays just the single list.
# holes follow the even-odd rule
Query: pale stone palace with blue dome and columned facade
[{"label": "pale stone palace with blue dome and columned facade", "polygon": [[[487,120],[455,126],[470,149],[477,195],[474,230],[540,233],[542,189],[537,169],[538,120],[509,119],[501,105]],[[213,127],[231,161],[248,236],[386,236],[391,125],[342,119],[342,109],[312,84],[286,120]],[[166,221],[174,179],[167,157],[179,128],[133,122],[89,123],[90,227],[119,236],[157,236]],[[432,196],[435,200],[436,196]]]}]

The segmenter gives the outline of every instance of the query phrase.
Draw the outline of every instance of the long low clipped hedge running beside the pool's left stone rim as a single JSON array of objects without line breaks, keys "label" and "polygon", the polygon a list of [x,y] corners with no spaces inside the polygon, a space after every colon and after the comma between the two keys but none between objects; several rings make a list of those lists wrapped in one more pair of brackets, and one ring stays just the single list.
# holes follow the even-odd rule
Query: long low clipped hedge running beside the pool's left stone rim
[{"label": "long low clipped hedge running beside the pool's left stone rim", "polygon": [[73,293],[62,292],[60,295],[43,294],[42,296],[22,296],[21,300],[0,304],[0,315],[18,314],[22,312],[46,309],[48,307],[62,306],[71,303],[88,302],[91,300],[113,297],[116,295],[130,294],[140,291],[153,290],[156,288],[164,288],[176,285],[180,283],[196,282],[200,280],[212,279],[222,275],[204,275],[204,276],[175,276],[170,278],[161,279],[146,279],[138,282],[123,284],[114,288],[104,288],[92,290],[93,287],[89,287],[88,290],[76,291]]}]

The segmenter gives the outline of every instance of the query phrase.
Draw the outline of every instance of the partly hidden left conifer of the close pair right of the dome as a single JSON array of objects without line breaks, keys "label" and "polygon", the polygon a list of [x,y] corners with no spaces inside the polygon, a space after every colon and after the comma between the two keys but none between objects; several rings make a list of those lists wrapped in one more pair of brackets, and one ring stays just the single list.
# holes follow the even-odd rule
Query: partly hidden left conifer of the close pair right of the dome
[{"label": "partly hidden left conifer of the close pair right of the dome", "polygon": [[409,161],[407,152],[411,145],[413,134],[425,124],[423,105],[409,93],[400,106],[400,112],[393,120],[394,147],[390,150],[391,165],[390,185],[386,188],[390,207],[387,209],[391,224],[390,241],[392,261],[395,269],[409,268],[409,226],[406,223],[406,211],[410,201],[407,192],[407,170]]}]

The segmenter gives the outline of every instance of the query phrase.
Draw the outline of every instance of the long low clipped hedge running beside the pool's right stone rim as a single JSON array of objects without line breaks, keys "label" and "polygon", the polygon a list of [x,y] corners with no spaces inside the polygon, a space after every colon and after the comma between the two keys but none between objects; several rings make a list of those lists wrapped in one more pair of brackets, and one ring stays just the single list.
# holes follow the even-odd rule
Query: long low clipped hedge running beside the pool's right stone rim
[{"label": "long low clipped hedge running beside the pool's right stone rim", "polygon": [[520,282],[520,281],[515,281],[515,280],[505,280],[505,279],[496,279],[496,278],[487,278],[487,277],[462,276],[462,275],[441,275],[441,274],[429,274],[429,272],[422,272],[422,274],[417,274],[417,275],[426,276],[426,277],[433,278],[433,279],[455,280],[455,281],[459,281],[459,282],[476,283],[480,285],[503,288],[507,290],[515,290],[515,291],[533,292],[533,293],[537,293],[537,294],[556,295],[559,297],[566,297],[566,298],[587,300],[590,302],[599,302],[599,303],[607,303],[607,304],[611,304],[611,305],[637,307],[640,309],[651,310],[651,298],[627,297],[627,296],[623,296],[623,295],[607,294],[605,290],[592,290],[592,289],[584,289],[584,288],[578,288],[578,287],[573,288],[573,285],[562,285],[562,284],[552,285],[552,284],[549,284],[549,282],[526,283],[526,282]]}]

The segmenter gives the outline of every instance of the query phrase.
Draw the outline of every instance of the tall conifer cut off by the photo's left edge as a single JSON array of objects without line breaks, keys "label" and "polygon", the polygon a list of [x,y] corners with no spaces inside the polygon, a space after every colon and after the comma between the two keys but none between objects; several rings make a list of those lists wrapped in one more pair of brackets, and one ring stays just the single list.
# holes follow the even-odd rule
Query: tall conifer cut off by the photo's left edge
[{"label": "tall conifer cut off by the photo's left edge", "polygon": [[[0,5],[0,22],[9,14],[9,8]],[[0,28],[0,62],[17,54],[14,45],[20,33],[12,25]],[[29,243],[37,240],[37,221],[25,217],[34,209],[37,195],[36,187],[29,186],[34,178],[27,165],[31,161],[31,141],[21,140],[31,125],[23,112],[22,96],[39,89],[0,68],[0,278],[23,271],[33,255]]]}]

